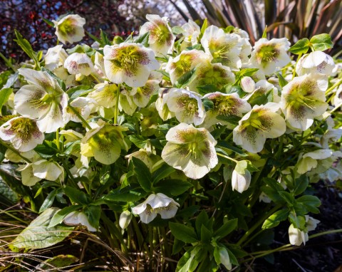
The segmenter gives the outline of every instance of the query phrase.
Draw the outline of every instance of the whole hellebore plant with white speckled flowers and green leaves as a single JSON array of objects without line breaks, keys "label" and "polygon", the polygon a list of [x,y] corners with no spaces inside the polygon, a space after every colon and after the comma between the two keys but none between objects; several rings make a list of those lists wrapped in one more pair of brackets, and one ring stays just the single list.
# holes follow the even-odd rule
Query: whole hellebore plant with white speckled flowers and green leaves
[{"label": "whole hellebore plant with white speckled flowers and green leaves", "polygon": [[[190,272],[278,251],[279,224],[289,229],[279,250],[310,242],[314,183],[342,179],[330,36],[291,46],[265,33],[252,50],[233,26],[146,18],[139,36],[103,33],[40,58],[17,33],[35,58],[0,75],[0,173],[14,173],[4,181],[38,218],[6,250],[71,235],[87,254],[79,234],[91,231],[89,243],[121,249],[132,271]],[[53,23],[62,43],[84,35],[80,16]]]}]

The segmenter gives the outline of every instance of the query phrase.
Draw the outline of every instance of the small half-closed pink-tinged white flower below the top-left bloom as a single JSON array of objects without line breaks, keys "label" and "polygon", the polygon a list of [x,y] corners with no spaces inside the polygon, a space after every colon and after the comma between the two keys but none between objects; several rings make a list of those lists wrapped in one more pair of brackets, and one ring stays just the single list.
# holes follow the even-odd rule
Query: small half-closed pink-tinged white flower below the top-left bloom
[{"label": "small half-closed pink-tinged white flower below the top-left bloom", "polygon": [[93,63],[86,53],[73,53],[64,62],[64,68],[72,75],[81,73],[82,75],[90,75],[95,72]]}]

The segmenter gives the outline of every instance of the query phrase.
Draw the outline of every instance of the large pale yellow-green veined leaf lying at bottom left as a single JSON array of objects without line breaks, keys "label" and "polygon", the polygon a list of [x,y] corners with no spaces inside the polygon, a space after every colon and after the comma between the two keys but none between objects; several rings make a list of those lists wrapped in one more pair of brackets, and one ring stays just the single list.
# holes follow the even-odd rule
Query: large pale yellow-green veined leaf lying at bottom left
[{"label": "large pale yellow-green veined leaf lying at bottom left", "polygon": [[10,248],[45,249],[63,241],[74,228],[70,226],[53,226],[49,228],[48,224],[57,211],[57,208],[47,209],[43,214],[31,221],[31,224],[11,242]]}]

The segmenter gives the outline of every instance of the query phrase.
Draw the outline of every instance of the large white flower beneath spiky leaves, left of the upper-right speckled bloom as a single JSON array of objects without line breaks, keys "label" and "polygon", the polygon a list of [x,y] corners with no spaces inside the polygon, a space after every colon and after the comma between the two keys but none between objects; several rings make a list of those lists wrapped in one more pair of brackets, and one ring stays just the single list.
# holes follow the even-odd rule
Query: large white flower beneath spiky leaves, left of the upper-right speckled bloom
[{"label": "large white flower beneath spiky leaves, left of the upper-right speckled bloom", "polygon": [[212,63],[222,63],[232,70],[241,68],[239,54],[242,50],[242,40],[239,35],[224,33],[222,28],[209,26],[203,33],[201,43],[205,53],[214,58]]}]

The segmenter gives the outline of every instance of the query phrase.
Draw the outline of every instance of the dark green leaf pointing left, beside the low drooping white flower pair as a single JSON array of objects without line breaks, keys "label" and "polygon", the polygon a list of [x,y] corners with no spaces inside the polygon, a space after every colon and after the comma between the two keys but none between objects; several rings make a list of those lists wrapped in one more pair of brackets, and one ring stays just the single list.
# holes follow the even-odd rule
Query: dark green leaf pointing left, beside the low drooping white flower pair
[{"label": "dark green leaf pointing left, beside the low drooping white flower pair", "polygon": [[130,184],[123,189],[112,190],[104,199],[108,202],[138,202],[145,196],[146,192],[141,187]]}]

